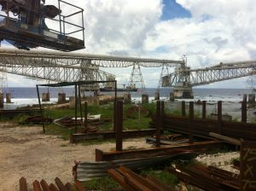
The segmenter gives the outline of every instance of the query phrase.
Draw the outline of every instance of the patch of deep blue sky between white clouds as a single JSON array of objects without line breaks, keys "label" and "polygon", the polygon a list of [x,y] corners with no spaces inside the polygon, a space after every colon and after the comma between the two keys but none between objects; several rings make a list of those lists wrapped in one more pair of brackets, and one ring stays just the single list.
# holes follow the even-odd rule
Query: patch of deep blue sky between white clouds
[{"label": "patch of deep blue sky between white clouds", "polygon": [[176,3],[176,0],[163,0],[163,14],[161,20],[172,20],[176,18],[190,18],[191,13],[188,9]]}]

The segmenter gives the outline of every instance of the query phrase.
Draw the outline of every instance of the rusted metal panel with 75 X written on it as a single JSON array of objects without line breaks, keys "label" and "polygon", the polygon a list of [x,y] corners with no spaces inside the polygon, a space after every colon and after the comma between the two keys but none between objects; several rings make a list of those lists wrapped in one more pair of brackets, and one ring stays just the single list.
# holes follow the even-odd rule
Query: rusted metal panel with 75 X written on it
[{"label": "rusted metal panel with 75 X written on it", "polygon": [[241,142],[241,191],[256,190],[256,142]]}]

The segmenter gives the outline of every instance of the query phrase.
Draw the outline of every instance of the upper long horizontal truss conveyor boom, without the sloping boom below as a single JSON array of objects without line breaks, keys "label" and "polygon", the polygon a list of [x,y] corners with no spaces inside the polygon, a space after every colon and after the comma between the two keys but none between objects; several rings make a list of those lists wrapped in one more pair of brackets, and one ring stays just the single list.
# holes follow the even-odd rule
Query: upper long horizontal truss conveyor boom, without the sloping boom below
[{"label": "upper long horizontal truss conveyor boom, without the sloping boom below", "polygon": [[[112,55],[90,55],[79,53],[64,53],[57,51],[24,51],[20,49],[0,49],[0,59],[11,59],[11,61],[22,60],[30,62],[38,66],[53,66],[53,65],[82,65],[91,64],[96,67],[132,67],[134,63],[140,67],[162,67],[166,64],[167,67],[178,67],[184,64],[183,61],[160,60],[150,58],[135,58]],[[9,62],[10,64],[13,64]]]}]

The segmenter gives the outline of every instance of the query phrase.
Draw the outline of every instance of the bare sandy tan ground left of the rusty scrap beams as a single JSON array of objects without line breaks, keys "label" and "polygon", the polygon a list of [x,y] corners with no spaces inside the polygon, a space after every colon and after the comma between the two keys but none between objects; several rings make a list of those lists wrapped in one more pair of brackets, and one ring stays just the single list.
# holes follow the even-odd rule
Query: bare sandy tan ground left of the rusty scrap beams
[{"label": "bare sandy tan ground left of the rusty scrap beams", "polygon": [[[150,147],[144,139],[124,142],[124,148]],[[58,136],[42,134],[41,126],[0,124],[0,190],[19,190],[20,177],[26,177],[29,188],[34,180],[73,182],[74,160],[95,161],[95,149],[115,148],[114,143],[83,146],[70,144]]]}]

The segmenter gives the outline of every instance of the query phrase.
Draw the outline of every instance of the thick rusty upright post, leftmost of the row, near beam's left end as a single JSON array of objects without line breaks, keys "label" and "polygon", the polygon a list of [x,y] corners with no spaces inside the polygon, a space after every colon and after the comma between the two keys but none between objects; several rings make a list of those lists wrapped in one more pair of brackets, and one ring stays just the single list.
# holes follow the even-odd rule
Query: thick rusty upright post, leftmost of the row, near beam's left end
[{"label": "thick rusty upright post, leftmost of the row, near beam's left end", "polygon": [[116,150],[123,150],[123,101],[117,101],[116,104],[116,130],[115,130],[115,138],[116,138]]}]

